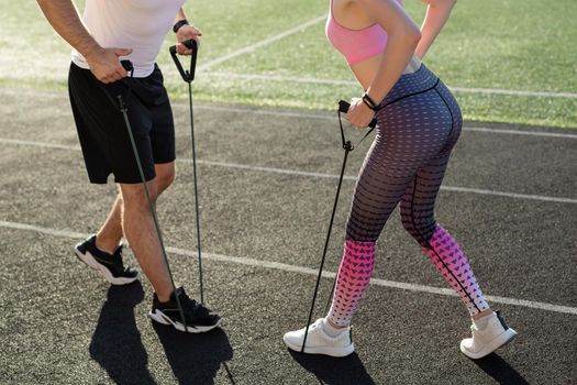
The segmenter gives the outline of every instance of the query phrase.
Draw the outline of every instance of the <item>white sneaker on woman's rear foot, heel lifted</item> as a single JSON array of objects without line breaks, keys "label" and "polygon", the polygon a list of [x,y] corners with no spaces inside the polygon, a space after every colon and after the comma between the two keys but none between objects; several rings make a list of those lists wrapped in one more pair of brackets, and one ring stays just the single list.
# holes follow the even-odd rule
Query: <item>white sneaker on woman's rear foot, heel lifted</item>
[{"label": "white sneaker on woman's rear foot, heel lifted", "polygon": [[517,331],[504,323],[498,311],[487,316],[484,329],[479,329],[474,322],[470,331],[473,338],[461,341],[461,351],[471,360],[482,359],[517,337]]}]

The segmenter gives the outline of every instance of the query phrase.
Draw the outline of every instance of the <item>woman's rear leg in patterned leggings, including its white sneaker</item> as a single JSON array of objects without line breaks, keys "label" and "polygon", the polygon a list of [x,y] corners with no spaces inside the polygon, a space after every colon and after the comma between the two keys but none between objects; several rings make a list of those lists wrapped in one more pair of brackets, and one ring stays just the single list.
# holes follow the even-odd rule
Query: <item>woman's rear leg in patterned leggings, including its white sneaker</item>
[{"label": "woman's rear leg in patterned leggings, including its white sneaker", "polygon": [[461,351],[476,360],[510,342],[517,332],[490,309],[458,243],[435,221],[434,204],[462,127],[461,111],[448,89],[440,85],[435,91],[451,111],[452,130],[447,145],[418,170],[407,189],[401,201],[401,219],[467,307],[473,319],[473,337],[461,342]]}]

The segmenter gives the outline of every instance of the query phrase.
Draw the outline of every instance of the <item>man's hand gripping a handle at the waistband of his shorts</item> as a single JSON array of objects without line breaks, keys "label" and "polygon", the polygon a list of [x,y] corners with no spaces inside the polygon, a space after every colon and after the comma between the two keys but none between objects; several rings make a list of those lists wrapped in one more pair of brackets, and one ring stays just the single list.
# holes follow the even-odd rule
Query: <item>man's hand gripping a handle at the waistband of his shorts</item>
[{"label": "man's hand gripping a handle at the waistband of his shorts", "polygon": [[120,56],[127,56],[132,53],[132,50],[127,48],[102,48],[91,51],[91,53],[85,56],[90,70],[96,78],[103,84],[114,82],[122,78],[125,78],[129,74],[120,64]]}]

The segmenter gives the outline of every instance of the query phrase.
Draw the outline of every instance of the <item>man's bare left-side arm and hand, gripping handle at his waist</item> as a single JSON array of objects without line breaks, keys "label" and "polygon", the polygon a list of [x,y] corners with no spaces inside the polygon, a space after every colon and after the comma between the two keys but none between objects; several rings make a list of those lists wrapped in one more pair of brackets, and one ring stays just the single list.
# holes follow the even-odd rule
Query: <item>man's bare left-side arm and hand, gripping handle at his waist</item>
[{"label": "man's bare left-side arm and hand, gripping handle at his waist", "polygon": [[73,0],[37,0],[37,3],[54,30],[86,58],[100,81],[113,82],[126,77],[118,57],[130,55],[132,50],[102,48],[80,20]]}]

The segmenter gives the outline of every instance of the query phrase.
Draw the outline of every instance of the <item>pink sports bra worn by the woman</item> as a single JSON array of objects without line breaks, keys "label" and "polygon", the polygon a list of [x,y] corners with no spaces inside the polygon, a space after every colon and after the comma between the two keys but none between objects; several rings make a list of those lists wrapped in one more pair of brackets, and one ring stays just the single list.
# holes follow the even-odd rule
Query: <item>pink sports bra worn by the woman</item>
[{"label": "pink sports bra worn by the woman", "polygon": [[351,30],[339,24],[333,16],[332,0],[325,33],[331,44],[344,55],[349,65],[382,53],[387,45],[387,32],[378,23],[363,30]]}]

